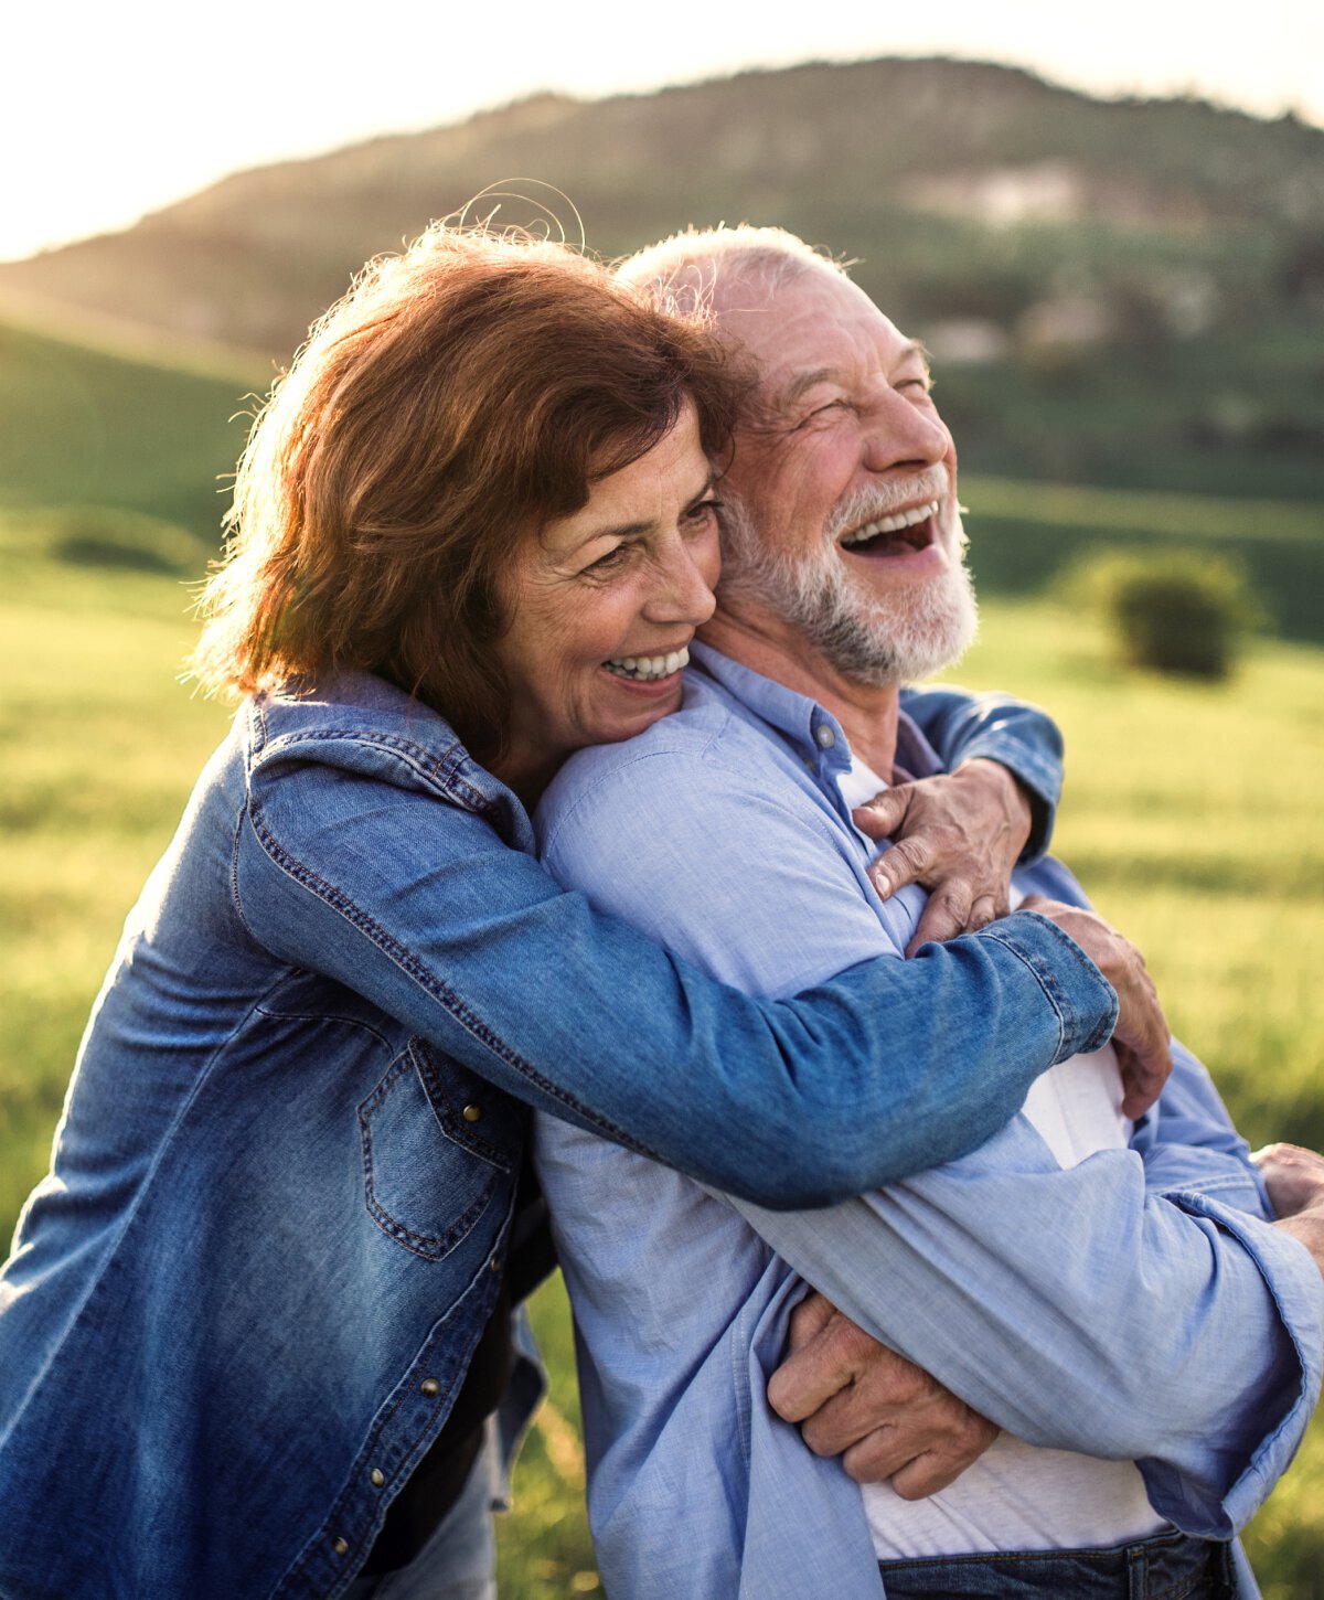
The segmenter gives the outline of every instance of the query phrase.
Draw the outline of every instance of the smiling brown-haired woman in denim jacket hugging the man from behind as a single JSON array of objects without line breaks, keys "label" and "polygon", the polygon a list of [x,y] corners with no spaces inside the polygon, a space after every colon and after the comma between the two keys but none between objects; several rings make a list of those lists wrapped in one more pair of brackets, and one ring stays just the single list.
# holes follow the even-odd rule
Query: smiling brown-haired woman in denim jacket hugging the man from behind
[{"label": "smiling brown-haired woman in denim jacket hugging the man from behind", "polygon": [[[760,1005],[534,862],[560,760],[680,701],[729,410],[704,336],[598,267],[445,229],[278,386],[197,658],[243,704],[0,1278],[6,1600],[329,1597],[429,1539],[467,1579],[435,1530],[508,1374],[520,1102],[820,1203],[969,1149],[1110,1032],[1038,917]],[[996,754],[939,712],[948,760]]]}]

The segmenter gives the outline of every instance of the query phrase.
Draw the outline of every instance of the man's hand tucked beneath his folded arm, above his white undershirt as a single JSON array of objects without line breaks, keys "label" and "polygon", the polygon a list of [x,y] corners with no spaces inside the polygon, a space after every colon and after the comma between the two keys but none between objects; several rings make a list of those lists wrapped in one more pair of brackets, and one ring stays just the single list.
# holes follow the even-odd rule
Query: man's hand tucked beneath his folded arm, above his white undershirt
[{"label": "man's hand tucked beneath his folded arm, above his white undershirt", "polygon": [[998,1429],[923,1368],[871,1339],[811,1290],[792,1312],[792,1354],[768,1402],[816,1456],[841,1456],[857,1483],[891,1480],[924,1499],[958,1478]]}]

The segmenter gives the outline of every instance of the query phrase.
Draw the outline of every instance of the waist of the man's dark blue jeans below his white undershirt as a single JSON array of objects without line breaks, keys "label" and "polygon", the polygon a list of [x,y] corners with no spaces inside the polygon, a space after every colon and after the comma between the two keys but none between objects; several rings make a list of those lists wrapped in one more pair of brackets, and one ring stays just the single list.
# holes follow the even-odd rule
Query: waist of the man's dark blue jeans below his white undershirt
[{"label": "waist of the man's dark blue jeans below his white undershirt", "polygon": [[1231,1546],[1159,1534],[1110,1550],[1023,1550],[883,1562],[887,1600],[1239,1600]]}]

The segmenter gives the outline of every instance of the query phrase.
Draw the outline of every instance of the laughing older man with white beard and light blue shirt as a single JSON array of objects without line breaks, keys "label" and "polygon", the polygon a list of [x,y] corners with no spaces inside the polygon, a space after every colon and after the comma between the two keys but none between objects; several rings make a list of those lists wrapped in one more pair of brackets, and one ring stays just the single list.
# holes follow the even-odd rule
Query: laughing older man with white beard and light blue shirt
[{"label": "laughing older man with white beard and light blue shirt", "polygon": [[[627,272],[710,310],[753,387],[686,704],[564,770],[544,856],[676,952],[784,994],[900,957],[923,914],[915,888],[875,893],[852,806],[937,768],[897,685],[974,632],[955,450],[919,346],[788,235],[688,237]],[[1017,890],[1081,899],[1054,862]],[[1143,1126],[1108,1051],[1076,1058],[972,1157],[822,1213],[728,1203],[547,1120],[537,1149],[609,1592],[1255,1592],[1228,1541],[1318,1394],[1324,1178],[1305,1160],[1300,1219],[1271,1224],[1188,1054]],[[926,1499],[897,1491],[923,1472],[860,1490],[811,1454],[764,1398],[796,1274],[1007,1432]]]}]

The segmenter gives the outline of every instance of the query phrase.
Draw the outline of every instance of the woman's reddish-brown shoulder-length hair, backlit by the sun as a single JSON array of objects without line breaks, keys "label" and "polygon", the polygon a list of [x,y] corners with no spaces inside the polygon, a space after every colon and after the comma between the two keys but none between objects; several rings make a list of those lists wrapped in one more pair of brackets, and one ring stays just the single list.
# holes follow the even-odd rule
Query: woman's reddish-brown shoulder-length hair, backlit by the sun
[{"label": "woman's reddish-brown shoulder-length hair, backlit by the sun", "polygon": [[712,338],[566,246],[437,226],[369,262],[254,424],[195,675],[251,694],[376,672],[489,758],[502,563],[686,400],[716,458],[736,390]]}]

